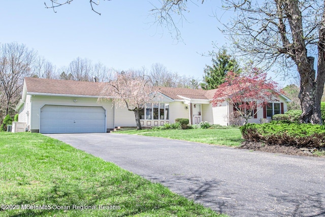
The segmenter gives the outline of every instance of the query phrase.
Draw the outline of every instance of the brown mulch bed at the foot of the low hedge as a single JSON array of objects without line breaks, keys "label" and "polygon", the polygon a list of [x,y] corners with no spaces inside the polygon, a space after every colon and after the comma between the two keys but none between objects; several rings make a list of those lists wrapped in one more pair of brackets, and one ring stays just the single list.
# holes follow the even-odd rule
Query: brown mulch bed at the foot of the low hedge
[{"label": "brown mulch bed at the foot of the low hedge", "polygon": [[[237,148],[256,150],[256,151],[265,151],[265,152],[272,152],[272,153],[283,153],[283,154],[290,154],[290,155],[296,155],[296,156],[319,157],[316,154],[313,154],[312,149],[299,148],[299,147],[287,146],[287,145],[268,145],[268,144],[264,144],[262,142],[244,141],[241,143],[241,146],[239,146]],[[321,149],[321,150],[323,150],[323,149]],[[325,156],[321,156],[321,157],[325,158]]]}]

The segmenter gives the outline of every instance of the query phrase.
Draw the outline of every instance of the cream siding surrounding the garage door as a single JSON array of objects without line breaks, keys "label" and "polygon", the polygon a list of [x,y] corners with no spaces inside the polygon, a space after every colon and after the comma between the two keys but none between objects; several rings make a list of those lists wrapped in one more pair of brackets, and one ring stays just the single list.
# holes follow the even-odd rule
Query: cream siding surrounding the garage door
[{"label": "cream siding surrounding the garage door", "polygon": [[40,111],[44,105],[102,106],[106,110],[107,129],[114,128],[113,126],[114,111],[112,108],[111,101],[102,101],[98,103],[97,98],[32,96],[31,112],[30,112],[30,116],[31,116],[30,130],[34,132],[37,132],[40,129]]}]

